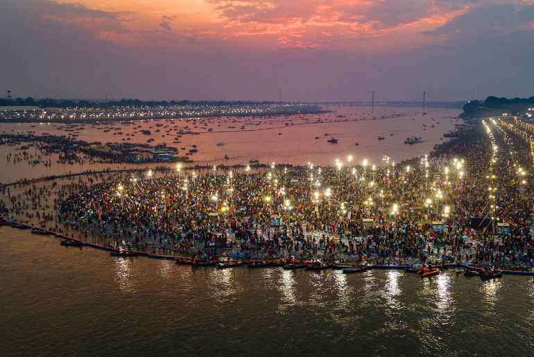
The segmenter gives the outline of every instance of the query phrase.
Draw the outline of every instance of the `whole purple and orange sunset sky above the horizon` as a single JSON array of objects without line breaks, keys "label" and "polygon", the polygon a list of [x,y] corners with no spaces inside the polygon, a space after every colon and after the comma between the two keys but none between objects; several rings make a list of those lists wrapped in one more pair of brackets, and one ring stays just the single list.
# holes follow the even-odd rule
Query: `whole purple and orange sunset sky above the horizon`
[{"label": "whole purple and orange sunset sky above the horizon", "polygon": [[15,96],[534,95],[534,0],[0,0]]}]

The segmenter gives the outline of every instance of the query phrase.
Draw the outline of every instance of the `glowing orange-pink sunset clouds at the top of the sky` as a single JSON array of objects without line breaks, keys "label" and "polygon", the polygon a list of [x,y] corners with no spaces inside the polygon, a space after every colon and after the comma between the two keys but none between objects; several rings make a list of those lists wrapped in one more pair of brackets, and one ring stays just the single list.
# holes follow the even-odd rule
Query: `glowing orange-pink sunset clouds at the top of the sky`
[{"label": "glowing orange-pink sunset clouds at the top of the sky", "polygon": [[422,45],[423,33],[463,14],[477,1],[427,0],[57,0],[114,16],[60,18],[121,44],[157,46],[201,40],[247,46],[388,51]]}]

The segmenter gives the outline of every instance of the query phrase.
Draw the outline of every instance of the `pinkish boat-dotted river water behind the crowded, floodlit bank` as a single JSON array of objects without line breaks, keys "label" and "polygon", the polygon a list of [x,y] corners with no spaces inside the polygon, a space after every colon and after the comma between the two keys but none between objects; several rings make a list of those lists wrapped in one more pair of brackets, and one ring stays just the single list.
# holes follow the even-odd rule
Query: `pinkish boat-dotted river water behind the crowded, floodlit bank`
[{"label": "pinkish boat-dotted river water behind the crowded, floodlit bank", "polygon": [[[78,127],[77,139],[103,143],[146,143],[148,139],[153,138],[155,141],[152,144],[166,143],[179,148],[179,155],[185,155],[192,145],[196,145],[198,153],[191,155],[191,159],[193,164],[200,165],[248,164],[251,159],[259,159],[259,162],[268,164],[276,162],[306,165],[308,162],[313,162],[316,165],[333,165],[336,158],[345,158],[347,155],[353,155],[356,164],[360,164],[363,158],[366,158],[370,164],[379,165],[383,155],[388,155],[400,162],[402,159],[429,154],[436,143],[446,140],[443,139],[443,134],[453,130],[454,125],[461,123],[459,119],[456,119],[459,110],[429,109],[426,111],[427,115],[422,115],[420,108],[377,107],[372,111],[370,107],[329,106],[324,109],[330,112],[257,118],[134,121],[132,125],[124,125],[124,123],[103,123],[97,126],[85,124],[82,128]],[[317,123],[319,120],[322,123]],[[141,128],[137,128],[139,126]],[[184,129],[186,127],[187,129]],[[71,125],[62,123],[0,124],[0,132],[35,132],[37,135],[43,133],[74,134],[75,132],[69,128]],[[202,134],[185,134],[178,138],[180,143],[173,143],[177,140],[176,133],[180,129]],[[209,132],[209,129],[212,132]],[[114,134],[119,130],[122,135]],[[141,130],[150,130],[151,134],[141,134]],[[160,131],[156,132],[156,130]],[[166,132],[167,130],[171,132]],[[380,135],[385,139],[378,140]],[[406,137],[413,136],[422,137],[424,142],[415,145],[404,144]],[[318,139],[315,139],[316,137]],[[328,139],[331,137],[338,139],[338,143],[329,143]],[[129,141],[122,141],[128,138]],[[216,146],[218,141],[222,141],[224,145]],[[359,145],[356,146],[356,143]],[[25,177],[55,175],[69,171],[83,171],[89,168],[87,166],[74,169],[71,166],[55,163],[51,167],[13,164],[6,162],[6,153],[11,149],[12,147],[0,147],[0,164],[10,168],[0,173],[0,182],[12,182]],[[33,150],[28,151],[33,152]],[[225,155],[228,155],[230,159],[225,159]],[[162,164],[134,166],[157,165]],[[126,166],[132,165],[105,164],[93,165],[90,168]]]}]

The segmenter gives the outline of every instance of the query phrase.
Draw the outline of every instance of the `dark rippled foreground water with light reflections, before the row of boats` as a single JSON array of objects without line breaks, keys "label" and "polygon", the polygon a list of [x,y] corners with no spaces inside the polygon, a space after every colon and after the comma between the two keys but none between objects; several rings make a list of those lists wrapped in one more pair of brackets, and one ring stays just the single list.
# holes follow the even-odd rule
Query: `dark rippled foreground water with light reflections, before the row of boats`
[{"label": "dark rippled foreground water with light reflections, before the row of boats", "polygon": [[1,356],[531,356],[531,278],[215,270],[0,227]]}]

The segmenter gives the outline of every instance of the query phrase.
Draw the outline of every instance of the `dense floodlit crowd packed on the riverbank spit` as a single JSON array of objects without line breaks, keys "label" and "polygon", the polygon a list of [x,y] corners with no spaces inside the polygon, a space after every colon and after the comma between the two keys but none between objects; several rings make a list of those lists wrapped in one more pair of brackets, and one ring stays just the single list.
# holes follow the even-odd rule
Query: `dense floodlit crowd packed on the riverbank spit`
[{"label": "dense floodlit crowd packed on the riverbank spit", "polygon": [[497,121],[472,121],[429,157],[395,164],[182,166],[3,186],[6,218],[101,245],[225,259],[532,268],[533,157]]}]

